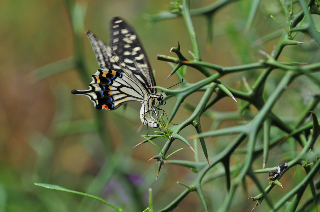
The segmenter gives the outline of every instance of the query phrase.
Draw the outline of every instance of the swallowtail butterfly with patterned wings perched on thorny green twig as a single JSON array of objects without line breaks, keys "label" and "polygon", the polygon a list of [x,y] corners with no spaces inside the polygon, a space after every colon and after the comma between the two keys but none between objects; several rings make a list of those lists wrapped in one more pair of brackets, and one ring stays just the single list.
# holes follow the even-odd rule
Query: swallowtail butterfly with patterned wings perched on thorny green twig
[{"label": "swallowtail butterfly with patterned wings perched on thorny green twig", "polygon": [[123,19],[114,17],[110,22],[112,48],[89,30],[85,32],[100,69],[92,75],[88,90],[71,93],[88,96],[98,110],[115,110],[129,101],[142,102],[141,122],[152,128],[159,127],[151,110],[159,110],[156,103],[165,102],[163,95],[156,94],[156,81],[139,38]]}]

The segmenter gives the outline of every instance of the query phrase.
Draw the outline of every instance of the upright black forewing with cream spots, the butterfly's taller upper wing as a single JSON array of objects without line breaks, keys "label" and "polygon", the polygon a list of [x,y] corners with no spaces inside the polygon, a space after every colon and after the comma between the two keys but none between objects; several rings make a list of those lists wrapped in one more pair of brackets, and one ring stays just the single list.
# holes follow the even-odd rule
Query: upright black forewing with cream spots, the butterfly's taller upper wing
[{"label": "upright black forewing with cream spots, the butterfly's taller upper wing", "polygon": [[156,94],[152,69],[138,36],[132,26],[123,19],[114,17],[110,23],[110,46],[149,93]]}]

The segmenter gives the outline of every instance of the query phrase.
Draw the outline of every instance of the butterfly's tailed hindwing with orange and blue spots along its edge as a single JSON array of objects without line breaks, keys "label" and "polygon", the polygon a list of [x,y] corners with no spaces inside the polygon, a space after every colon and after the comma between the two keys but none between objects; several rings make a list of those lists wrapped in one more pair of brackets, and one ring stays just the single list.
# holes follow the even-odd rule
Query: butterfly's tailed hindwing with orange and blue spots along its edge
[{"label": "butterfly's tailed hindwing with orange and blue spots along its edge", "polygon": [[131,77],[111,69],[99,69],[92,75],[89,87],[88,90],[72,90],[71,93],[88,96],[98,110],[115,110],[129,101],[142,102],[148,95]]}]

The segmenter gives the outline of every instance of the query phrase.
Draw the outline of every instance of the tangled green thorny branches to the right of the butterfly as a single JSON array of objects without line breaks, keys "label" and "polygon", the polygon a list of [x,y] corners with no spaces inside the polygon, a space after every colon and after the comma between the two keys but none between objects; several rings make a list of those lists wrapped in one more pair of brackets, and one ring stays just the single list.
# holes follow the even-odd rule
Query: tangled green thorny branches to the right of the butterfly
[{"label": "tangled green thorny branches to the right of the butterfly", "polygon": [[[174,3],[175,8],[172,9],[171,11],[162,12],[157,15],[151,15],[148,17],[149,21],[156,22],[162,19],[171,19],[171,18],[176,18],[181,16],[186,22],[189,35],[191,38],[192,46],[193,46],[193,51],[195,52],[195,54],[193,55],[194,59],[189,60],[181,54],[179,43],[177,48],[172,48],[172,51],[177,54],[177,57],[158,55],[159,60],[177,64],[173,68],[173,71],[171,72],[169,77],[174,73],[177,74],[179,79],[183,77],[181,76],[181,72],[179,72],[179,70],[181,70],[183,66],[193,67],[199,70],[201,73],[203,73],[207,77],[206,79],[201,80],[194,84],[185,82],[180,86],[180,88],[175,90],[168,90],[163,87],[156,87],[164,91],[166,98],[175,96],[177,99],[168,123],[170,123],[170,121],[176,114],[177,110],[179,109],[180,105],[182,104],[183,100],[188,95],[196,91],[204,90],[203,88],[205,88],[205,93],[201,101],[199,102],[197,107],[191,109],[193,113],[186,121],[182,122],[179,125],[172,126],[169,128],[167,128],[168,125],[166,126],[167,130],[169,131],[168,134],[171,134],[172,139],[167,141],[164,148],[162,149],[162,152],[168,151],[170,144],[174,140],[174,135],[178,135],[178,133],[181,130],[183,130],[186,126],[193,125],[196,129],[197,134],[190,137],[189,139],[192,139],[192,138],[200,139],[201,146],[203,148],[203,152],[205,157],[207,158],[208,163],[204,163],[204,162],[196,163],[196,162],[181,161],[181,160],[164,161],[163,158],[161,157],[161,154],[154,157],[160,161],[158,171],[160,170],[162,163],[168,163],[168,164],[188,167],[197,173],[197,176],[194,179],[193,183],[188,186],[189,188],[195,188],[195,189],[194,190],[186,189],[169,205],[167,205],[162,210],[160,210],[163,212],[172,211],[174,208],[177,207],[180,201],[182,201],[191,191],[196,191],[198,193],[200,200],[204,205],[205,210],[208,211],[208,206],[204,199],[202,188],[201,188],[203,186],[202,179],[204,178],[208,170],[214,167],[219,162],[222,162],[224,164],[224,167],[225,167],[224,175],[227,178],[227,188],[228,188],[228,195],[225,198],[225,201],[223,202],[223,204],[221,205],[219,211],[221,212],[228,211],[228,208],[230,207],[233,196],[238,186],[243,181],[245,175],[249,175],[252,177],[253,181],[255,182],[255,184],[257,185],[257,187],[261,192],[258,196],[252,197],[252,200],[258,200],[256,206],[260,204],[263,199],[265,199],[268,202],[268,205],[271,208],[271,211],[276,211],[281,206],[283,206],[286,201],[294,197],[289,208],[290,208],[290,211],[295,211],[300,201],[300,198],[304,193],[304,190],[308,185],[313,185],[313,177],[315,176],[316,172],[320,168],[319,161],[317,161],[311,169],[309,165],[307,165],[308,167],[306,167],[307,162],[305,162],[306,154],[310,149],[313,148],[315,141],[320,133],[319,122],[317,120],[317,117],[311,111],[316,107],[316,105],[320,101],[319,97],[315,96],[314,101],[309,105],[309,107],[306,108],[305,111],[302,111],[299,119],[293,125],[295,126],[293,128],[288,124],[284,123],[284,121],[282,121],[281,118],[277,117],[274,113],[271,112],[271,109],[273,108],[275,102],[279,99],[280,95],[282,95],[282,93],[285,91],[285,89],[290,85],[292,81],[294,81],[300,75],[305,75],[309,78],[312,78],[310,74],[320,71],[320,63],[315,63],[315,64],[291,63],[290,64],[290,63],[281,63],[277,61],[279,55],[281,54],[285,46],[301,44],[301,42],[293,40],[295,35],[292,36],[293,35],[292,32],[298,32],[298,31],[307,32],[312,37],[314,37],[316,42],[318,42],[318,44],[320,45],[320,34],[315,28],[313,19],[310,16],[310,14],[320,14],[318,9],[319,5],[317,5],[313,0],[310,0],[308,4],[306,4],[304,0],[299,0],[302,11],[300,11],[300,13],[295,15],[293,14],[292,11],[289,11],[287,9],[288,6],[290,5],[284,5],[285,3],[282,0],[280,0],[280,4],[282,5],[283,11],[287,17],[287,24],[286,26],[284,26],[285,30],[282,31],[282,36],[278,44],[276,45],[272,55],[269,55],[265,52],[261,52],[264,56],[266,56],[267,59],[261,59],[257,63],[244,64],[244,65],[233,66],[233,67],[223,67],[216,64],[202,62],[200,61],[201,57],[200,57],[199,47],[196,39],[196,34],[193,29],[191,16],[192,15],[205,15],[205,16],[210,15],[211,17],[216,11],[218,11],[220,8],[222,8],[223,6],[225,6],[230,2],[233,2],[233,1],[232,0],[217,1],[204,8],[189,10],[189,1],[187,0],[183,1],[183,4],[180,4],[180,1],[177,1]],[[253,13],[250,15],[251,19],[252,19],[252,16],[254,16],[254,12],[257,11],[257,8],[258,8],[257,4],[259,4],[259,1],[252,5],[252,7],[254,8],[252,8],[252,11],[251,11],[251,13]],[[291,8],[292,7],[293,6],[291,6]],[[304,26],[301,26],[304,19],[306,24]],[[250,21],[248,20],[248,22],[252,23],[252,20]],[[250,23],[249,25],[246,26],[246,29],[245,29],[246,32],[250,28]],[[208,72],[208,68],[216,71],[216,73]],[[224,85],[223,82],[219,80],[222,76],[227,74],[232,74],[232,73],[241,72],[241,71],[255,70],[260,68],[264,68],[264,71],[260,74],[256,82],[254,83],[253,87],[252,88],[249,87],[247,89],[248,90],[247,92],[232,89]],[[264,91],[265,82],[268,79],[269,74],[274,69],[283,70],[285,72],[285,75],[283,76],[282,80],[279,82],[275,91],[269,96],[269,98],[266,101],[264,101],[262,98],[262,95]],[[313,81],[316,83],[316,80],[313,80]],[[209,84],[210,86],[208,87]],[[320,84],[318,84],[318,86],[320,86]],[[214,88],[216,87],[219,87],[219,91],[214,90]],[[212,99],[209,99],[212,92],[214,91],[216,91],[216,95]],[[212,106],[214,103],[218,102],[220,99],[226,96],[230,96],[233,99],[234,97],[238,99],[242,99],[247,102],[246,107],[252,104],[260,112],[252,120],[249,120],[249,122],[245,125],[238,125],[234,127],[222,128],[222,129],[202,133],[201,124],[200,124],[201,115],[205,114],[206,111],[210,111],[208,110],[210,106]],[[306,118],[310,114],[309,111],[312,114],[313,122],[304,123]],[[242,112],[243,110],[240,111],[240,114]],[[271,126],[278,127],[284,133],[279,134],[277,137],[273,139],[270,139]],[[312,127],[313,127],[312,133],[306,134],[306,132],[308,132],[308,130],[310,130]],[[263,146],[256,147],[255,142],[256,142],[257,134],[261,130],[264,133],[268,133],[265,135],[266,141]],[[231,142],[228,145],[228,147],[226,147],[222,152],[220,152],[220,154],[214,156],[213,158],[208,157],[208,152],[207,152],[206,145],[203,138],[227,135],[227,134],[239,134],[239,135],[236,137],[236,139],[233,142]],[[151,135],[149,139],[154,139],[154,138],[156,137]],[[296,156],[296,158],[294,158],[292,161],[289,161],[287,163],[288,167],[280,174],[280,176],[275,181],[271,181],[270,185],[266,189],[263,189],[262,186],[260,185],[259,180],[255,177],[255,174],[262,173],[262,172],[269,172],[271,170],[276,169],[277,167],[266,168],[262,170],[252,170],[253,161],[262,153],[264,155],[268,155],[269,149],[272,149],[279,142],[289,140],[289,138],[295,139],[303,147],[302,151]],[[241,165],[241,167],[239,168],[237,177],[234,180],[230,181],[230,171],[232,169],[230,168],[230,165],[229,165],[229,158],[233,153],[235,153],[235,149],[246,139],[248,140],[247,148],[242,151],[242,153],[246,154],[246,159],[244,163]],[[144,142],[146,142],[146,140]],[[314,158],[314,159],[317,160],[317,158]],[[268,160],[268,157],[264,156],[263,166],[265,166],[265,164],[267,163],[267,160]],[[306,178],[304,178],[299,185],[294,187],[276,204],[272,204],[268,199],[267,194],[271,191],[274,185],[276,184],[280,185],[278,182],[278,179],[280,179],[287,170],[289,170],[290,168],[296,165],[302,165],[307,168],[306,171],[308,174]],[[309,184],[310,182],[312,183]],[[319,191],[317,191],[317,193],[319,193]],[[316,195],[317,195],[316,192],[314,192],[313,193],[314,198],[316,198]]]}]

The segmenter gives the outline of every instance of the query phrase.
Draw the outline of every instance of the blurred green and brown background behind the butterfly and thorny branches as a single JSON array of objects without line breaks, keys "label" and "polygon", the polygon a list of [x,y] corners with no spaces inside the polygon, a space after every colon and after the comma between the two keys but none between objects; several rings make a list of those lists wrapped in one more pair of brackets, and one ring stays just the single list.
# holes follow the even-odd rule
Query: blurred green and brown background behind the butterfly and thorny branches
[{"label": "blurred green and brown background behind the butterfly and thorny branches", "polygon": [[[293,13],[296,15],[308,10],[301,8],[301,2],[304,1],[293,1]],[[319,4],[318,1],[312,2]],[[267,101],[284,77],[283,70],[288,72],[283,65],[292,67],[298,63],[320,62],[319,41],[310,36],[314,34],[316,37],[314,30],[298,32],[294,40],[304,44],[286,46],[278,57],[279,63],[271,59],[270,55],[275,52],[274,48],[282,39],[284,29],[270,15],[289,28],[287,19],[291,17],[290,3],[283,0],[191,1],[190,15],[202,61],[231,67],[263,59],[260,64],[274,65],[278,69],[270,72],[261,91],[261,96]],[[198,8],[204,8],[207,12],[198,15],[201,14]],[[212,8],[216,8],[214,13]],[[75,4],[71,0],[0,2],[0,87],[3,90],[0,94],[0,211],[114,211],[96,200],[45,190],[35,186],[35,182],[56,184],[99,196],[125,211],[143,211],[147,208],[149,187],[153,189],[153,208],[158,211],[184,192],[185,187],[181,185],[192,184],[196,173],[170,164],[164,164],[156,181],[158,163],[147,163],[147,160],[158,154],[157,149],[150,142],[132,149],[143,140],[140,134],[147,133],[145,127],[139,134],[136,133],[141,124],[139,103],[129,103],[126,110],[121,107],[115,111],[96,111],[86,97],[70,94],[73,88],[85,89],[88,81],[91,81],[90,75],[98,68],[84,31],[88,28],[106,41],[108,22],[114,16],[120,16],[134,26],[156,70],[157,85],[169,87],[180,80],[181,74],[190,83],[184,86],[205,79],[192,66],[188,66],[187,70],[187,66],[182,66],[177,72],[178,80],[174,76],[165,80],[172,72],[172,67],[157,60],[157,54],[176,57],[169,50],[179,41],[183,57],[190,60],[197,57],[194,50],[196,45],[190,42],[190,32],[184,19],[172,19],[179,16],[179,10],[175,9],[178,8],[170,1],[152,0],[93,0],[76,1]],[[159,10],[164,11],[159,13]],[[165,20],[158,21],[161,17]],[[315,28],[319,29],[319,16],[313,14],[310,17]],[[310,23],[310,19],[306,18],[304,23]],[[300,26],[300,23],[295,24]],[[261,55],[259,49],[268,52],[265,55],[269,58]],[[189,56],[189,50],[194,54],[191,52]],[[279,64],[282,67],[278,67]],[[262,66],[226,75],[220,80],[231,91],[250,92],[261,73]],[[202,91],[205,89],[207,87]],[[304,131],[308,139],[313,121],[305,110],[313,110],[318,117],[320,114],[317,106],[319,97],[315,94],[319,94],[318,73],[303,73],[286,88],[275,102],[272,112],[292,129],[310,123]],[[182,107],[177,110],[172,122],[181,124],[188,119],[201,98],[199,92],[186,97],[183,102],[185,110]],[[259,114],[260,108],[249,106],[238,96],[236,98],[237,103],[228,97],[214,102],[201,117],[202,131],[243,126]],[[174,104],[174,98],[170,98],[162,108],[170,115]],[[241,117],[238,111],[244,111]],[[299,117],[300,114],[304,116]],[[302,119],[304,122],[296,125]],[[266,171],[260,170],[266,159],[262,153],[266,140],[263,129],[269,132],[271,144],[266,167],[272,169],[283,161],[292,161],[302,151],[303,145],[296,141],[297,138],[272,143],[278,139],[281,131],[275,125],[265,125],[256,135],[254,147],[257,155],[250,163],[256,174],[243,177],[242,187],[233,194],[229,211],[251,210],[255,203],[247,198],[261,192],[256,182],[259,181],[263,189],[269,185],[268,174],[259,174]],[[196,133],[192,126],[187,126],[179,135],[188,138]],[[219,155],[234,139],[234,134],[206,138],[209,158]],[[303,139],[303,136],[300,137],[305,145]],[[164,138],[153,140],[157,146],[164,145],[165,141]],[[170,157],[172,163],[174,159],[196,160],[208,166],[204,154],[198,151],[203,148],[200,142],[197,139],[188,141],[198,154],[185,148],[185,143],[173,142],[169,154],[184,149]],[[231,179],[237,179],[245,163],[246,155],[243,153],[247,152],[248,140],[245,141],[230,157]],[[318,142],[308,154],[309,158],[303,156],[307,158],[305,161],[310,162],[316,155],[319,155]],[[292,192],[293,188],[307,179],[307,173],[312,173],[308,167],[294,166],[285,172],[280,179],[284,188],[274,187],[268,194],[268,200],[278,202]],[[217,211],[228,199],[228,180],[223,176],[225,167],[218,163],[202,180],[203,196],[200,194],[199,198],[195,192],[190,193],[179,204],[177,211],[204,211],[204,201],[209,211]],[[316,188],[319,188],[318,178],[317,174],[314,178]],[[177,181],[182,184],[178,185]],[[280,210],[285,211],[286,206],[292,208],[294,203],[299,203],[298,210],[315,211],[312,198],[315,195],[312,194],[316,192],[319,195],[319,191],[313,191],[310,187],[302,192],[301,197],[289,199],[293,202],[291,205],[289,202],[280,202]],[[269,205],[264,200],[256,210],[270,210]]]}]

